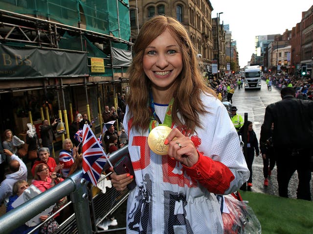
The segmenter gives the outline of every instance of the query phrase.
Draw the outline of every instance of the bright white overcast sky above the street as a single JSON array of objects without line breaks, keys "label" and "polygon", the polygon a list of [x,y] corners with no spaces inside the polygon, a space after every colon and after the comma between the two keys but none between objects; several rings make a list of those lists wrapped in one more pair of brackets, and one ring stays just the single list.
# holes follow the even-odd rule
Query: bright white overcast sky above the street
[{"label": "bright white overcast sky above the street", "polygon": [[283,34],[301,21],[302,12],[312,0],[210,0],[212,18],[220,15],[220,23],[229,24],[232,39],[237,41],[239,65],[244,67],[255,53],[255,36]]}]

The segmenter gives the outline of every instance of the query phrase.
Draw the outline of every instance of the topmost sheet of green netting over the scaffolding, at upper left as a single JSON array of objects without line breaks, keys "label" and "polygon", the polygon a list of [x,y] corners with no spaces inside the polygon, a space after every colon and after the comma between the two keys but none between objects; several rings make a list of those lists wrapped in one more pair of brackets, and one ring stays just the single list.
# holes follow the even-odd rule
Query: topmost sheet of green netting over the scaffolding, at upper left
[{"label": "topmost sheet of green netting over the scaffolding, at upper left", "polygon": [[[128,0],[0,0],[4,10],[43,16],[45,19],[129,41],[131,35]],[[117,10],[118,9],[118,10]]]}]

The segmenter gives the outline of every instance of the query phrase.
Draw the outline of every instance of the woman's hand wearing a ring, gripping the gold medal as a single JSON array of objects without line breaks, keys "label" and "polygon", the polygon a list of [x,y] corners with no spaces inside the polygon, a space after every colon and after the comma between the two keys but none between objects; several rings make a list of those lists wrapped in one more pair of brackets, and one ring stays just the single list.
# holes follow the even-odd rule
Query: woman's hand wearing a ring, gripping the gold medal
[{"label": "woman's hand wearing a ring, gripping the gold medal", "polygon": [[168,145],[168,156],[175,158],[187,167],[192,167],[199,160],[194,143],[174,128],[164,141]]}]

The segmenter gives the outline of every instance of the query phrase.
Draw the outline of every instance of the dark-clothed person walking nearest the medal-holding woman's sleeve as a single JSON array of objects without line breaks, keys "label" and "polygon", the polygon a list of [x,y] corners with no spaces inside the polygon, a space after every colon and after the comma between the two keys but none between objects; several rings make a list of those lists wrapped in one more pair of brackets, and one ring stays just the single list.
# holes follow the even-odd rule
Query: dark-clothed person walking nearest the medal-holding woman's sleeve
[{"label": "dark-clothed person walking nearest the medal-holding woman's sleeve", "polygon": [[[245,155],[246,158],[246,165],[248,166],[248,169],[250,171],[250,176],[247,181],[247,187],[252,187],[252,163],[255,156],[259,156],[260,150],[259,150],[259,143],[258,139],[256,137],[256,134],[253,130],[253,124],[251,121],[247,121],[247,141],[246,141],[246,148],[247,152]],[[241,128],[239,135],[243,135],[243,128]],[[255,154],[254,154],[255,152]]]}]

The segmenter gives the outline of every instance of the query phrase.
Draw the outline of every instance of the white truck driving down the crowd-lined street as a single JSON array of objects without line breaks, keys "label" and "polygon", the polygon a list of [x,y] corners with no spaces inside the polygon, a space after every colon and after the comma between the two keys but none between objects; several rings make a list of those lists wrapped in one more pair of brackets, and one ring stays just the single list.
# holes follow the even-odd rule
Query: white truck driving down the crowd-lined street
[{"label": "white truck driving down the crowd-lined street", "polygon": [[259,65],[245,67],[245,90],[261,89],[262,70]]}]

